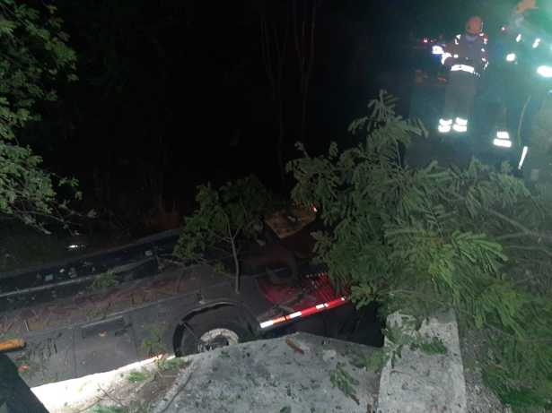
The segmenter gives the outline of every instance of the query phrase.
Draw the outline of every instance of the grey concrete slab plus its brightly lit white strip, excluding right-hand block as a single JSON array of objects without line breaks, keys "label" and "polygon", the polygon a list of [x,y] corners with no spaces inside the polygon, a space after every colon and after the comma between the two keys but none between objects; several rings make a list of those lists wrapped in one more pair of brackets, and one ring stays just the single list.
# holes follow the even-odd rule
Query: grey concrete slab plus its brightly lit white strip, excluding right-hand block
[{"label": "grey concrete slab plus its brightly lit white strip, excluding right-hand block", "polygon": [[[169,360],[178,361],[171,368],[147,360],[32,391],[50,413],[372,413],[379,374],[355,367],[372,350],[296,333]],[[349,395],[330,379],[343,372]]]}]

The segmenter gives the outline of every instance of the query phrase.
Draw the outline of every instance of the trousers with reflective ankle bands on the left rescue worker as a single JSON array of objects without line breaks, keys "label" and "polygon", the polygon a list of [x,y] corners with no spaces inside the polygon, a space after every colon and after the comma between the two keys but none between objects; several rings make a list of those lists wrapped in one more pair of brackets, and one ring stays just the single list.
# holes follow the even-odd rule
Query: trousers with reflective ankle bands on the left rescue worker
[{"label": "trousers with reflective ankle bands on the left rescue worker", "polygon": [[[451,72],[444,95],[442,119],[451,124],[465,126],[473,108],[478,78],[473,73]],[[466,130],[457,130],[457,132]]]}]

